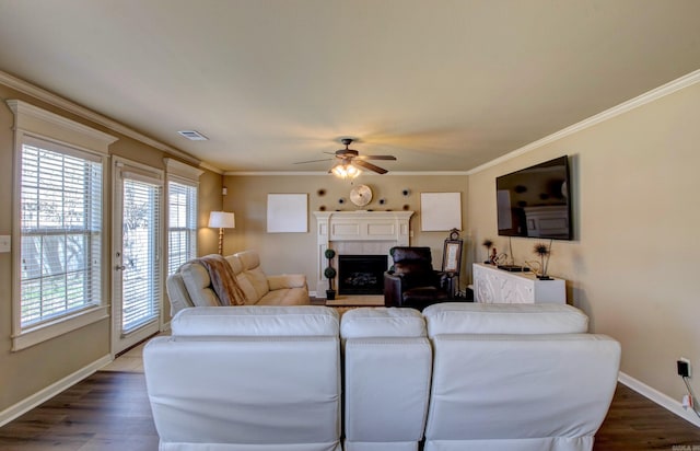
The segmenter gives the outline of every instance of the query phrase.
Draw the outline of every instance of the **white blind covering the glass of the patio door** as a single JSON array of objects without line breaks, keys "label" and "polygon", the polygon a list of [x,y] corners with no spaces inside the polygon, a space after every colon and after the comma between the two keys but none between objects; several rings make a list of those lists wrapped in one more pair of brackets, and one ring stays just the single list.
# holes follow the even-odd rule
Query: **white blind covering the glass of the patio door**
[{"label": "white blind covering the glass of the patio door", "polygon": [[161,299],[161,186],[124,180],[124,334],[158,317]]}]

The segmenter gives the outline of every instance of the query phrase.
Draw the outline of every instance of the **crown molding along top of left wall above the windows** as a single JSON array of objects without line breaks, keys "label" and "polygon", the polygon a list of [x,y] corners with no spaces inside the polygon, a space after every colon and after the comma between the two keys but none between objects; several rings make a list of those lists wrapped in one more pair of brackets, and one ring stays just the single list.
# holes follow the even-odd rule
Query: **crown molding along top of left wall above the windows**
[{"label": "crown molding along top of left wall above the windows", "polygon": [[149,138],[145,135],[142,135],[127,126],[124,126],[116,120],[113,120],[106,116],[101,115],[100,113],[95,113],[92,109],[88,109],[84,106],[78,105],[71,101],[68,101],[52,92],[46,91],[42,88],[35,86],[34,84],[21,80],[16,77],[13,77],[7,72],[0,70],[0,83],[11,88],[15,91],[19,91],[23,94],[31,95],[34,99],[37,99],[42,102],[46,102],[49,105],[56,106],[58,108],[65,109],[69,113],[75,114],[83,119],[91,120],[95,124],[100,124],[113,131],[127,136],[129,138],[136,139],[137,141],[143,142],[147,146],[153,147],[155,149],[162,150],[163,152],[177,157],[182,160],[185,160],[189,163],[200,165],[201,162],[195,157],[186,153],[182,150],[170,147],[161,141],[156,141],[155,139]]}]

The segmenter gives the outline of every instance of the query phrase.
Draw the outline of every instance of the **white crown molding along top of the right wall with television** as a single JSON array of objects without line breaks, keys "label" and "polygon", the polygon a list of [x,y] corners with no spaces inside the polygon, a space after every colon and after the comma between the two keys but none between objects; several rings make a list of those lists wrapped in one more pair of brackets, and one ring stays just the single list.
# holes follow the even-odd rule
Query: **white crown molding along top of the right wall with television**
[{"label": "white crown molding along top of the right wall with television", "polygon": [[555,142],[559,139],[568,137],[570,135],[576,134],[581,130],[585,130],[586,128],[591,128],[595,125],[609,120],[616,116],[628,113],[632,109],[639,108],[640,106],[646,105],[648,103],[657,101],[658,99],[665,97],[666,95],[670,95],[676,91],[680,91],[688,86],[691,86],[696,83],[700,82],[700,69],[688,73],[687,76],[680,77],[676,80],[673,80],[666,84],[662,84],[658,88],[655,88],[644,94],[638,95],[627,102],[623,102],[617,106],[614,106],[609,109],[606,109],[602,113],[596,114],[595,116],[591,116],[587,119],[583,119],[580,123],[576,123],[572,126],[563,128],[557,132],[553,132],[542,139],[530,142],[529,144],[523,146],[520,149],[513,150],[504,154],[503,157],[499,157],[495,160],[491,160],[488,163],[481,164],[470,171],[467,171],[467,175],[477,174],[481,171],[485,171],[489,167],[493,167],[498,164],[501,164],[505,161],[512,160],[516,157],[520,157],[524,153],[530,152],[535,149],[538,149],[542,146],[546,146],[550,142]]}]

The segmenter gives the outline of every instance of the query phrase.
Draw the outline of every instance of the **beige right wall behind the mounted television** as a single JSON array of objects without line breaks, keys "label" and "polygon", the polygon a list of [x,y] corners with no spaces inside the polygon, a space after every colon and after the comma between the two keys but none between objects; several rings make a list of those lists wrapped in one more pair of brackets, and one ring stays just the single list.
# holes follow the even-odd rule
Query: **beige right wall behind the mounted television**
[{"label": "beige right wall behind the mounted television", "polygon": [[[622,343],[621,370],[675,400],[676,360],[700,365],[698,117],[700,83],[470,175],[467,203],[478,257],[485,238],[505,251],[495,177],[571,155],[576,239],[555,241],[550,273],[568,279],[594,332]],[[536,242],[513,239],[520,262]]]}]

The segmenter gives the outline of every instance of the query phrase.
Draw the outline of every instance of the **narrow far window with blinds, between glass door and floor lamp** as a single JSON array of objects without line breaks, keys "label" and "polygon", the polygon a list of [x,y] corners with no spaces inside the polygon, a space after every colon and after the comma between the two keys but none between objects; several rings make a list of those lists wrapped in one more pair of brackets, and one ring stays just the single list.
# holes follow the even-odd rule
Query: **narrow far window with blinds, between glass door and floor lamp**
[{"label": "narrow far window with blinds, between glass door and floor lamp", "polygon": [[197,186],[167,183],[167,274],[197,254]]}]

